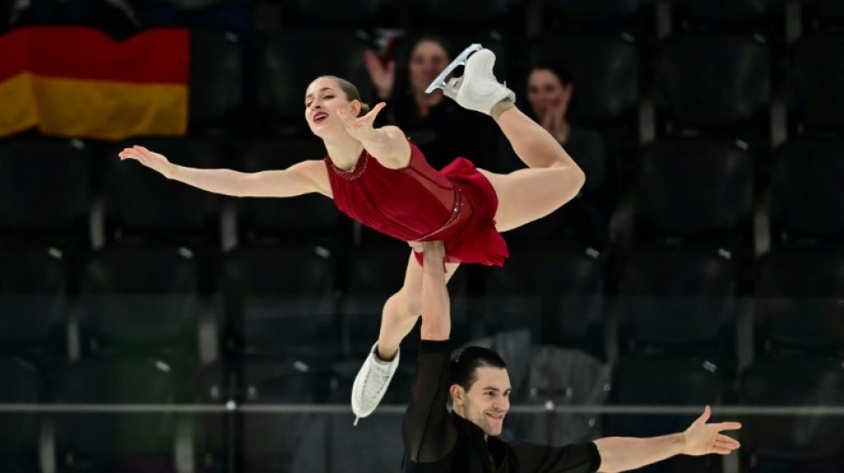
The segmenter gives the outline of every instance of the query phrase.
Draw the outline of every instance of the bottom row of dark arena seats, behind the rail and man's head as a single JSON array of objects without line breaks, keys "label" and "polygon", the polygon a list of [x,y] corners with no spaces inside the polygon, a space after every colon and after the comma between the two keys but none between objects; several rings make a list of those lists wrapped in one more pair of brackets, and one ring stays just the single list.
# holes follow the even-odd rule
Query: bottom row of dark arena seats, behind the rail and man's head
[{"label": "bottom row of dark arena seats, behind the rail and man's head", "polygon": [[[760,361],[744,370],[734,386],[719,367],[701,360],[630,360],[609,367],[581,352],[548,346],[523,345],[519,357],[513,346],[506,356],[511,361],[514,406],[834,407],[844,396],[840,363],[819,359]],[[387,391],[385,405],[407,402],[413,368],[406,365]],[[244,407],[302,406],[326,400],[347,406],[354,378],[354,372],[343,366],[304,370],[266,359],[247,360],[235,367],[212,365],[196,372],[180,371],[158,359],[87,359],[62,367],[54,382],[54,397],[44,399],[39,387],[46,380],[36,367],[15,359],[0,361],[0,367],[0,376],[13,380],[0,383],[0,402],[27,404],[173,405],[179,402],[182,385],[188,384],[188,400],[201,406],[223,406],[229,400]],[[392,471],[402,452],[400,411],[376,413],[357,428],[352,427],[350,412],[319,414],[305,408],[276,414],[0,415],[4,418],[0,422],[4,471],[38,470],[35,458],[42,425],[54,426],[46,436],[52,436],[60,471],[173,471],[179,439],[185,437],[193,438],[187,443],[193,445],[187,456],[193,457],[194,469],[187,470],[195,471],[224,471],[233,462],[244,471],[303,471],[304,465],[313,465],[307,471],[335,471],[331,464],[351,471],[363,471],[357,468],[362,464]],[[513,413],[507,416],[503,435],[553,445],[602,436],[650,437],[684,430],[696,417]],[[743,471],[768,471],[762,467],[766,463],[768,468],[821,468],[818,465],[835,461],[844,449],[844,427],[834,416],[739,414],[729,418],[744,423],[737,432],[743,444]],[[41,442],[44,436],[40,432]],[[362,436],[365,442],[356,440]],[[185,454],[181,453],[183,458]],[[15,465],[27,468],[11,469]],[[649,471],[676,469],[721,471],[721,462],[715,457],[680,457]]]}]

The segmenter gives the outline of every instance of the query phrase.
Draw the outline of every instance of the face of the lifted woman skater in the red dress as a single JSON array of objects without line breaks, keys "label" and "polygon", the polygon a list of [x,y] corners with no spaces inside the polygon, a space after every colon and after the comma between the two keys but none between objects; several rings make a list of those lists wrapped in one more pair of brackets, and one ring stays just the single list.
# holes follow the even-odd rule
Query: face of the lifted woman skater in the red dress
[{"label": "face of the lifted woman skater in the red dress", "polygon": [[305,120],[311,131],[320,138],[325,138],[338,131],[345,131],[337,111],[344,109],[353,116],[360,106],[356,100],[350,101],[346,92],[340,89],[337,81],[328,77],[319,77],[305,91]]}]

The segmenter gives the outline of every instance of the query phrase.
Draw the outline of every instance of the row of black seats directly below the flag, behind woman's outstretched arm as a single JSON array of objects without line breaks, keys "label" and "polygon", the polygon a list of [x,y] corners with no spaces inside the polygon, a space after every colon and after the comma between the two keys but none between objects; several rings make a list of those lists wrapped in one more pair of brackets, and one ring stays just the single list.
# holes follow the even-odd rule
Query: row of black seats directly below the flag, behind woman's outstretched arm
[{"label": "row of black seats directly below the flag, behind woman's outstretched arm", "polygon": [[[101,188],[109,242],[219,243],[226,198],[167,181],[138,162],[118,160],[117,151],[132,143],[165,154],[180,165],[248,172],[284,169],[324,154],[322,145],[311,138],[254,140],[231,154],[226,147],[203,138],[139,138],[107,146],[100,153],[60,139],[5,140],[0,142],[0,232],[4,240],[41,236],[57,242],[64,235],[68,240],[75,237],[78,243],[88,242],[92,197]],[[769,165],[775,244],[844,236],[844,198],[836,186],[844,177],[842,143],[795,140],[776,149]],[[641,154],[633,188],[633,230],[646,237],[717,240],[752,248],[753,195],[766,187],[766,181],[759,178],[758,162],[743,142],[729,139],[665,140],[649,146]],[[495,162],[478,165],[491,170],[505,166]],[[559,230],[568,225],[567,207],[577,205],[569,204],[512,233],[508,240],[514,245],[519,240],[530,245],[545,240],[559,246]],[[356,241],[353,232],[357,227],[320,195],[243,199],[236,201],[235,207],[241,240],[246,244],[275,239],[336,248]]]}]

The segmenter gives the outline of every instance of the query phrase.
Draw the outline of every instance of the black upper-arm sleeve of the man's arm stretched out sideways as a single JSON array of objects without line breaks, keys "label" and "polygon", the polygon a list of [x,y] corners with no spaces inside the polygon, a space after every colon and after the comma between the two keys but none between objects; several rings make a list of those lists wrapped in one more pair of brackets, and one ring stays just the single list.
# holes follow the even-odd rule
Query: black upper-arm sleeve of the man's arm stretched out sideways
[{"label": "black upper-arm sleeve of the man's arm stretched out sideways", "polygon": [[592,442],[559,447],[512,442],[510,446],[520,471],[593,473],[601,467],[601,453],[598,453],[598,446]]}]

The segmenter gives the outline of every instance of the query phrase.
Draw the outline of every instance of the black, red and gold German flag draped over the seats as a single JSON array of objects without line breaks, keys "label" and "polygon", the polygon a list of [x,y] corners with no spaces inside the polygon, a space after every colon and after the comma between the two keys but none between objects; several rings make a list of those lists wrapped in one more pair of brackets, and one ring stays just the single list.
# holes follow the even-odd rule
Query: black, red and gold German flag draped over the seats
[{"label": "black, red and gold German flag draped over the seats", "polygon": [[117,140],[187,131],[189,33],[151,29],[115,42],[92,28],[0,35],[0,137]]}]

